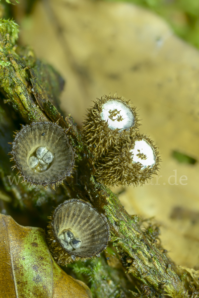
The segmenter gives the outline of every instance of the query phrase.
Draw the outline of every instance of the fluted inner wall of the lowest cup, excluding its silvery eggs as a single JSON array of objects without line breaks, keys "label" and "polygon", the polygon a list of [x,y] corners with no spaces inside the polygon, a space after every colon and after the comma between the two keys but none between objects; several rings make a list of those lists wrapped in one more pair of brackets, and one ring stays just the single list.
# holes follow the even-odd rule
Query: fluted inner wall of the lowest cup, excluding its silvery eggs
[{"label": "fluted inner wall of the lowest cup, excluding its silvery eggs", "polygon": [[[59,236],[66,230],[81,239],[81,247],[68,253],[89,257],[99,254],[107,246],[109,238],[106,218],[87,202],[78,199],[65,201],[54,214],[54,234]],[[64,248],[64,246],[63,246]]]}]

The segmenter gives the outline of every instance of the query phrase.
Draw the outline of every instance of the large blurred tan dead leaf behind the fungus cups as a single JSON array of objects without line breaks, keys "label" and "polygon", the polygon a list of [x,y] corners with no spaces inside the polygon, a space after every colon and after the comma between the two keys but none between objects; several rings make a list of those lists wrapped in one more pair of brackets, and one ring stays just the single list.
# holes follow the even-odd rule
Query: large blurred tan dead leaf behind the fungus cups
[{"label": "large blurred tan dead leaf behind the fungus cups", "polygon": [[[199,163],[172,157],[178,150],[199,160],[198,50],[130,3],[42,0],[28,17],[22,4],[15,7],[20,40],[66,79],[61,106],[78,125],[96,97],[118,92],[133,101],[140,132],[159,147],[162,177],[126,188],[119,198],[130,214],[155,217],[177,264],[199,269]],[[171,185],[175,173],[178,185]]]}]

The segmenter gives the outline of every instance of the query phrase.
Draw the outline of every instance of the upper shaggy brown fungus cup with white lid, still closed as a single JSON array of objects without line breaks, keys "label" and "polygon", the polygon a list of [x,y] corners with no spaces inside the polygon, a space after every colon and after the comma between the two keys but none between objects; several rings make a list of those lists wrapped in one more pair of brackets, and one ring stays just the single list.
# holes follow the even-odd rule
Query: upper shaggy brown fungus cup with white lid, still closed
[{"label": "upper shaggy brown fungus cup with white lid, still closed", "polygon": [[83,140],[97,159],[110,147],[117,147],[122,141],[130,142],[138,125],[137,113],[130,100],[117,94],[104,95],[88,109],[82,127]]}]

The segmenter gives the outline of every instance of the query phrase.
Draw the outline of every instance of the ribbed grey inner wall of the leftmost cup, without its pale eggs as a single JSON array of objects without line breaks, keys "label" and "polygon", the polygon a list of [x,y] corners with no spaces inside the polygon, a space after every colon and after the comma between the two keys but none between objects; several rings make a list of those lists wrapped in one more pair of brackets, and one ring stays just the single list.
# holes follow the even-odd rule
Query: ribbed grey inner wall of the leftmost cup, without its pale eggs
[{"label": "ribbed grey inner wall of the leftmost cup, without its pale eggs", "polygon": [[[28,159],[39,147],[50,150],[54,159],[46,171],[34,172]],[[16,136],[13,151],[17,168],[32,184],[55,184],[70,174],[73,165],[73,151],[64,130],[51,122],[25,126]]]}]

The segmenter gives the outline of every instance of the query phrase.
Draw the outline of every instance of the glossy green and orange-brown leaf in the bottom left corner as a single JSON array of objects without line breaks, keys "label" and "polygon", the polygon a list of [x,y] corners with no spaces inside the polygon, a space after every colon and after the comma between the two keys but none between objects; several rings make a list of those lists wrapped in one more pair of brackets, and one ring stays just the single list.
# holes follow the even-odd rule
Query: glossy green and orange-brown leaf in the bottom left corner
[{"label": "glossy green and orange-brown leaf in the bottom left corner", "polygon": [[92,298],[89,288],[53,260],[45,232],[0,215],[0,297]]}]

